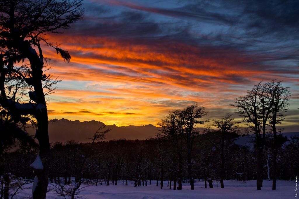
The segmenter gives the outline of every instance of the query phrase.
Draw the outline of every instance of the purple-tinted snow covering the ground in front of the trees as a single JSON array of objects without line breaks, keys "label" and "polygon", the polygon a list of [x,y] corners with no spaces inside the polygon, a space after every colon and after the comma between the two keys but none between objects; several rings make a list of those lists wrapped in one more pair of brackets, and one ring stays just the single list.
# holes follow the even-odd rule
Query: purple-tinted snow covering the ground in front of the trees
[{"label": "purple-tinted snow covering the ground in front of the trees", "polygon": [[[277,190],[272,191],[272,181],[263,181],[262,190],[256,190],[256,181],[224,181],[225,188],[220,188],[219,182],[213,182],[213,189],[205,189],[204,182],[196,182],[195,190],[190,190],[188,184],[184,184],[182,190],[169,190],[167,182],[164,182],[163,190],[160,185],[156,186],[152,181],[151,186],[134,187],[132,182],[129,186],[123,186],[122,181],[114,185],[87,186],[80,192],[78,198],[83,199],[178,199],[178,198],[295,198],[295,181],[277,181]],[[32,185],[31,185],[32,186]],[[30,187],[28,187],[30,188]],[[31,196],[31,189],[24,189],[16,198],[27,198]],[[47,193],[47,198],[59,198],[56,192]]]}]

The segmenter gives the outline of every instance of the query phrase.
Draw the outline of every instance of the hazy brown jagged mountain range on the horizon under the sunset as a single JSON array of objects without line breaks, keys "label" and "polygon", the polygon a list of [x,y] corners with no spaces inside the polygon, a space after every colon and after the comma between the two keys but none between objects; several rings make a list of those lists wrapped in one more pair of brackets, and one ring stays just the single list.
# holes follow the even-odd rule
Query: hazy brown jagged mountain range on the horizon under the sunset
[{"label": "hazy brown jagged mountain range on the horizon under the sunset", "polygon": [[[100,121],[84,121],[79,120],[71,121],[67,119],[54,119],[49,121],[49,138],[50,142],[65,142],[67,140],[75,140],[79,142],[89,142],[88,138],[92,138],[94,132],[96,132],[104,123]],[[147,139],[153,137],[157,132],[159,127],[155,127],[152,124],[145,126],[122,126],[118,127],[115,124],[107,125],[105,129],[111,129],[107,133],[106,140],[114,139]],[[35,129],[28,127],[28,133],[30,135],[35,134]]]}]

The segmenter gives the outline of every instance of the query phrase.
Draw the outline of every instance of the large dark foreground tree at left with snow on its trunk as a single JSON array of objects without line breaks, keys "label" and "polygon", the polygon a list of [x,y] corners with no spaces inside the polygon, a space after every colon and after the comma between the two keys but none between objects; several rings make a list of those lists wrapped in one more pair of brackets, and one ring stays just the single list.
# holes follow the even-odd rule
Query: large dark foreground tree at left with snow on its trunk
[{"label": "large dark foreground tree at left with snow on its trunk", "polygon": [[[46,41],[44,36],[48,33],[61,33],[61,29],[69,28],[70,24],[80,19],[83,14],[80,8],[81,2],[81,0],[0,1],[0,104],[9,110],[13,117],[20,116],[25,120],[28,117],[21,116],[30,115],[37,122],[36,138],[39,141],[39,157],[42,165],[36,168],[33,198],[46,197],[50,158],[45,92],[51,91],[53,84],[49,83],[50,75],[43,74],[45,57],[42,53],[42,42],[54,47],[57,54],[70,61],[71,57],[67,51]],[[19,70],[16,63],[25,60],[28,60],[29,64],[22,66],[25,70]],[[5,79],[12,74],[31,88],[27,103],[19,103],[7,94],[10,89],[5,87]]]}]

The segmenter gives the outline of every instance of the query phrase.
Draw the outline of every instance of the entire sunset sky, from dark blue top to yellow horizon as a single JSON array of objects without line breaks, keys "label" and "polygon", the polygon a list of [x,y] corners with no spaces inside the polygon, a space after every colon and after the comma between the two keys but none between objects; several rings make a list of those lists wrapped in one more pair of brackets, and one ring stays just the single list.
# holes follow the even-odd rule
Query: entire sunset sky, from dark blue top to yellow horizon
[{"label": "entire sunset sky, from dark blue top to yellow horizon", "polygon": [[49,41],[61,79],[49,118],[154,124],[198,102],[219,118],[259,81],[291,87],[284,126],[299,121],[299,1],[86,0],[84,17]]}]

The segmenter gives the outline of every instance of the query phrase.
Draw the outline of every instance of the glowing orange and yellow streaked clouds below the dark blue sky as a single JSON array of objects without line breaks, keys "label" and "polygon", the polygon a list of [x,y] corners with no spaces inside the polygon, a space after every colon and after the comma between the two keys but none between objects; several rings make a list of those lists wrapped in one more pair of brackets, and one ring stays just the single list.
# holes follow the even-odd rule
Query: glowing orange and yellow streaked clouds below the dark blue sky
[{"label": "glowing orange and yellow streaked clouds below the dark blue sky", "polygon": [[51,95],[49,118],[156,124],[168,111],[194,102],[219,109],[220,115],[233,111],[229,104],[258,81],[298,82],[256,64],[260,57],[221,47],[68,35],[48,39],[63,41],[61,47],[72,56],[67,64],[44,48],[52,72],[64,78]]}]

